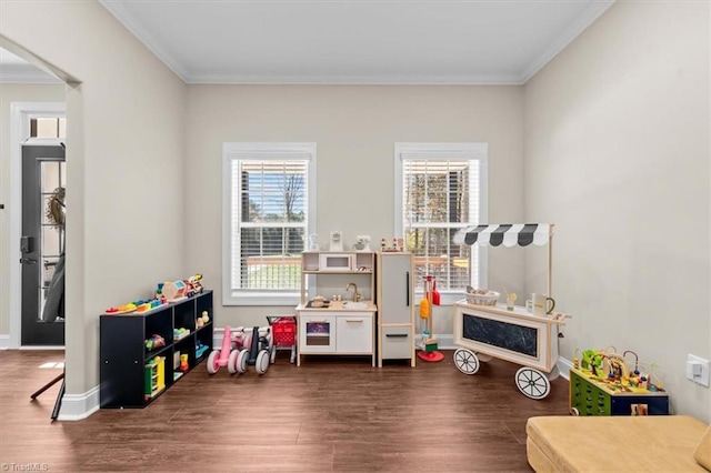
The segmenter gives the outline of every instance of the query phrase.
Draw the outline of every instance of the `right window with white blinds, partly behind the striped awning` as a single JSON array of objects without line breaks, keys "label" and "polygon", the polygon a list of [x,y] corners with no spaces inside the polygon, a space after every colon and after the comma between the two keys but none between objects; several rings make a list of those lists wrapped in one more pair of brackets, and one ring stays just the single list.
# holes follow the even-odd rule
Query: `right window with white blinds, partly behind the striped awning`
[{"label": "right window with white blinds, partly behind the striped awning", "polygon": [[395,143],[395,235],[414,254],[415,290],[435,278],[443,302],[487,285],[485,252],[452,243],[487,221],[487,143]]}]

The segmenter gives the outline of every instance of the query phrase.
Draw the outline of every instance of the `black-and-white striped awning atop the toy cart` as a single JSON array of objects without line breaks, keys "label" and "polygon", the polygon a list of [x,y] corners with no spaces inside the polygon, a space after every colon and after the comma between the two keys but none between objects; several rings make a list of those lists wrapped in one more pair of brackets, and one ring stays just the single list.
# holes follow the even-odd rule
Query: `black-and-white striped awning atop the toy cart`
[{"label": "black-and-white striped awning atop the toy cart", "polygon": [[548,243],[551,223],[491,223],[462,229],[454,234],[457,244],[485,246],[528,246]]}]

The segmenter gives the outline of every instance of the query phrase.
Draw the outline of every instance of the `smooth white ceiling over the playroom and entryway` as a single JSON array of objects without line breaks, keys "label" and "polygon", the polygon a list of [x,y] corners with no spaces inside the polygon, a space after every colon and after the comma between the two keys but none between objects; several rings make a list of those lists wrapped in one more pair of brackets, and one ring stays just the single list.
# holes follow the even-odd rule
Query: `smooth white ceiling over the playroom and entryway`
[{"label": "smooth white ceiling over the playroom and entryway", "polygon": [[[99,0],[188,83],[521,84],[614,0]],[[57,82],[0,49],[0,82]]]}]

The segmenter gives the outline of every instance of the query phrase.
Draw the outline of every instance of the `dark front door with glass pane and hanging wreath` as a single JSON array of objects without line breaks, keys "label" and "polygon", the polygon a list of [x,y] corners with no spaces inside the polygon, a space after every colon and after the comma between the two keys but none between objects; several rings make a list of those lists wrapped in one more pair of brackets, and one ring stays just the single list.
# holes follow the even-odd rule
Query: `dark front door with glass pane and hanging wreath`
[{"label": "dark front door with glass pane and hanging wreath", "polygon": [[[22,144],[22,235],[19,258],[22,264],[23,346],[64,344],[63,311],[61,314],[50,314],[47,320],[51,322],[44,321],[42,312],[54,269],[64,251],[66,184],[64,148],[57,140],[28,140]],[[63,294],[63,284],[61,289],[60,294]]]}]

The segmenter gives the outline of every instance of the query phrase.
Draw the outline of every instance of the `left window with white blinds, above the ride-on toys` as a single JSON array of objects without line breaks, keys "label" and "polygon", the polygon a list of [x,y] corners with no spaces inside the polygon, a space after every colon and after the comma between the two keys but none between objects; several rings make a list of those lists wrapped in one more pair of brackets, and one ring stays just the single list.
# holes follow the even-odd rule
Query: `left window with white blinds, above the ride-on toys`
[{"label": "left window with white blinds, above the ride-on toys", "polygon": [[314,143],[223,144],[226,305],[296,305],[313,233]]}]

